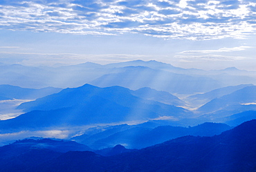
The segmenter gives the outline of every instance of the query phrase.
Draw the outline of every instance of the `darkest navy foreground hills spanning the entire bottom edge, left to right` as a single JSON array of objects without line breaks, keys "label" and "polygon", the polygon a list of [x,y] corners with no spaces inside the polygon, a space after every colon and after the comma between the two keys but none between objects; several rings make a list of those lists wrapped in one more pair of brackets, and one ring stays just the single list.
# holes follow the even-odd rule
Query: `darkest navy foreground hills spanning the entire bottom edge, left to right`
[{"label": "darkest navy foreground hills spanning the entire bottom edge, left to right", "polygon": [[124,153],[117,146],[111,150],[119,152],[108,156],[38,146],[65,142],[18,141],[8,145],[8,153],[6,146],[0,148],[0,171],[255,171],[255,126],[256,120],[251,120],[220,135],[188,135]]}]

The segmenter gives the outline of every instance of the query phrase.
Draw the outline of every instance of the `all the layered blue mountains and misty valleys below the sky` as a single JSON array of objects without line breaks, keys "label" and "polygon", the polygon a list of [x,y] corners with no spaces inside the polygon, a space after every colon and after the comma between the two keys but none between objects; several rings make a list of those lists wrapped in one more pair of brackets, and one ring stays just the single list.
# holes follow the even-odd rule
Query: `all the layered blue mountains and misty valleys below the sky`
[{"label": "all the layered blue mountains and misty valleys below the sky", "polygon": [[0,64],[0,171],[256,171],[255,76]]}]

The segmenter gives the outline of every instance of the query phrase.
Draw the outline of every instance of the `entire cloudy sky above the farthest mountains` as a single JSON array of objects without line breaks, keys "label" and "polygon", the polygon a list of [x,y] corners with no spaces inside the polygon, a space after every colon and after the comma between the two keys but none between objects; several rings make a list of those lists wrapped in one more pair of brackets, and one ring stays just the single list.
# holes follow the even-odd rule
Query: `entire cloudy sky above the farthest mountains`
[{"label": "entire cloudy sky above the farthest mountains", "polygon": [[0,62],[256,70],[255,0],[1,0]]}]

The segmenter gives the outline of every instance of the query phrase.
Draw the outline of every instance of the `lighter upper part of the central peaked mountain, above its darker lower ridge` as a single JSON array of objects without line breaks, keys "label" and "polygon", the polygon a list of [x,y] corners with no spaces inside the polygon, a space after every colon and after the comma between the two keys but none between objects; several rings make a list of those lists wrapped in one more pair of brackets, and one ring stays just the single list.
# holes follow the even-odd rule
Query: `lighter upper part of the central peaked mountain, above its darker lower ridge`
[{"label": "lighter upper part of the central peaked mountain, above its darker lower ridge", "polygon": [[[74,106],[80,106],[80,108],[82,108],[87,104],[91,104],[91,107],[95,106],[103,108],[103,106],[107,106],[106,108],[111,108],[112,106],[109,104],[113,104],[113,106],[118,104],[118,106],[125,106],[127,108],[138,108],[142,113],[143,111],[159,113],[159,116],[167,114],[169,114],[167,116],[172,114],[175,114],[175,116],[183,116],[190,113],[184,108],[141,99],[140,97],[131,95],[130,91],[131,90],[120,86],[99,88],[97,86],[85,84],[78,88],[66,88],[60,93],[48,95],[46,97],[36,99],[33,102],[26,102],[21,104],[18,108],[24,109],[25,111],[49,111]],[[99,102],[101,102],[101,105]]]}]

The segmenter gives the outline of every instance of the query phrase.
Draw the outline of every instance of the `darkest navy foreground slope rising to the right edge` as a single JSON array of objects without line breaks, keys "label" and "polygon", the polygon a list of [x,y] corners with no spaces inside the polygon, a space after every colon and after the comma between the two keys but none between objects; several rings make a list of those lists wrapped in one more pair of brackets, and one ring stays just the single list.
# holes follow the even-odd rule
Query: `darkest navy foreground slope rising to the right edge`
[{"label": "darkest navy foreground slope rising to the right edge", "polygon": [[213,137],[185,136],[104,157],[70,151],[30,171],[255,171],[256,120]]}]

